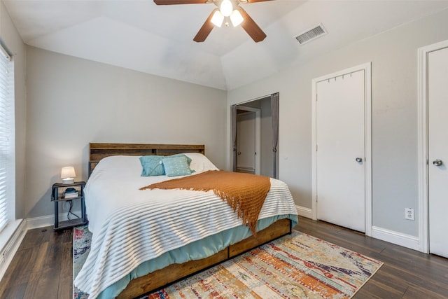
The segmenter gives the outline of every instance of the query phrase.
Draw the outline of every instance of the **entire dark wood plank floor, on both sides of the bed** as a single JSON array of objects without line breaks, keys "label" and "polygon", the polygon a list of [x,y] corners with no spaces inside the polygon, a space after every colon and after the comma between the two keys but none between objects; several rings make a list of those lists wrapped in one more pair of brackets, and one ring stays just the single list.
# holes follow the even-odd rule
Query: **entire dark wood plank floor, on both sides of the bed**
[{"label": "entire dark wood plank floor, on both sides of the bed", "polygon": [[[384,262],[354,298],[448,298],[448,259],[300,218],[295,227]],[[73,231],[29,230],[0,281],[0,298],[72,298]]]}]

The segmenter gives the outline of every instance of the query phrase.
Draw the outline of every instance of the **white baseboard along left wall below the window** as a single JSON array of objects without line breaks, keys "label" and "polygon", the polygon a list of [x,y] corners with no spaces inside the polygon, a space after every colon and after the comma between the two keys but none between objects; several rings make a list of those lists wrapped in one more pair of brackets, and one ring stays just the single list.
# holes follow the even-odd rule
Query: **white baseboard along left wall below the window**
[{"label": "white baseboard along left wall below the window", "polygon": [[27,221],[23,219],[18,219],[13,223],[8,223],[8,226],[6,226],[6,228],[1,232],[1,235],[6,235],[7,240],[5,240],[6,242],[0,251],[0,280],[3,278],[3,275],[13,260],[15,253],[18,251],[26,233]]}]

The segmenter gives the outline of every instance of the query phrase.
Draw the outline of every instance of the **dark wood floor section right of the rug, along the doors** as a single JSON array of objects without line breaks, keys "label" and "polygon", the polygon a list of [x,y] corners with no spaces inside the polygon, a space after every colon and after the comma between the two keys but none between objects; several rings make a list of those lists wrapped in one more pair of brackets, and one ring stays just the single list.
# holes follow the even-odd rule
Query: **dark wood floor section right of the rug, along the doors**
[{"label": "dark wood floor section right of the rug, along the doors", "polygon": [[384,263],[353,298],[448,298],[446,258],[308,218],[300,218],[295,229]]}]

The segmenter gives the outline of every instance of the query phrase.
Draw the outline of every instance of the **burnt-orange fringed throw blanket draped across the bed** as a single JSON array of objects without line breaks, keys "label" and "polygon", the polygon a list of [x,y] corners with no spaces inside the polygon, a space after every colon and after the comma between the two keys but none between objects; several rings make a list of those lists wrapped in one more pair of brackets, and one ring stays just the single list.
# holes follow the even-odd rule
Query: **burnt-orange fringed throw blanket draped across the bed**
[{"label": "burnt-orange fringed throw blanket draped across the bed", "polygon": [[256,235],[258,215],[271,188],[271,182],[268,176],[209,170],[193,176],[153,183],[140,190],[154,188],[206,192],[213,190],[237,212],[238,217],[251,229],[252,234]]}]

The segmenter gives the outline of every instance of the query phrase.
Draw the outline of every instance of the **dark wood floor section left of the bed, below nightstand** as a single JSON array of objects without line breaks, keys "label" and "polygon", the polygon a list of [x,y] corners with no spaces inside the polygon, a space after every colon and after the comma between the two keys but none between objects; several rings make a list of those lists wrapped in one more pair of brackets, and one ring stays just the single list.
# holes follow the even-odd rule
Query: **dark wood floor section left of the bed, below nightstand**
[{"label": "dark wood floor section left of the bed, below nightstand", "polygon": [[0,281],[0,298],[73,298],[73,230],[28,230]]}]

